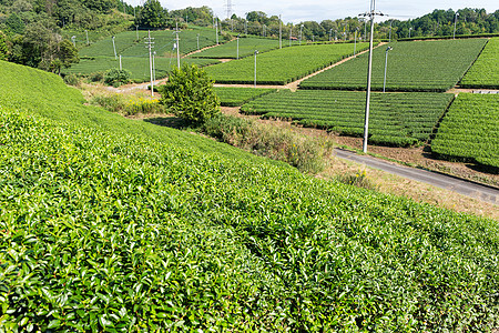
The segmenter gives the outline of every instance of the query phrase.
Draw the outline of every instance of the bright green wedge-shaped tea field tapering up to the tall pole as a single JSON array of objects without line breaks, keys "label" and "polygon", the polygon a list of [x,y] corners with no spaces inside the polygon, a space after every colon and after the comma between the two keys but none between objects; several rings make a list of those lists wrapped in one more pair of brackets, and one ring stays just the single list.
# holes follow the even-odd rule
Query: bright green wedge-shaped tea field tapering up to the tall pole
[{"label": "bright green wedge-shaped tea field tapering up to the tall pole", "polygon": [[[368,43],[358,43],[357,51]],[[319,44],[283,48],[257,54],[256,82],[286,84],[354,53],[354,44]],[[254,57],[248,57],[206,69],[216,83],[253,83]]]}]

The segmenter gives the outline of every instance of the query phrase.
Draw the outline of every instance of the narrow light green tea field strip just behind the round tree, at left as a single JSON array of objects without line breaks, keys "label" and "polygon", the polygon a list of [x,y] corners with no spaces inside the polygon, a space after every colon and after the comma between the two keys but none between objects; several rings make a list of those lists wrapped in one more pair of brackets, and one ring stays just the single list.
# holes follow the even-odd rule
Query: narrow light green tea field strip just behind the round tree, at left
[{"label": "narrow light green tea field strip just behind the round tree, at left", "polygon": [[[181,58],[182,63],[193,63],[200,67],[207,64],[217,63],[216,59],[191,59]],[[132,80],[135,82],[143,82],[150,80],[150,68],[149,68],[149,54],[147,57],[122,57],[122,68],[129,70],[132,74]],[[89,75],[95,72],[105,72],[112,68],[119,68],[120,62],[112,58],[95,58],[95,59],[82,59],[79,63],[71,65],[69,69],[63,69],[64,74],[82,74]],[[172,68],[176,68],[176,57],[175,58],[154,58],[154,67],[156,72],[156,79],[165,78]]]}]

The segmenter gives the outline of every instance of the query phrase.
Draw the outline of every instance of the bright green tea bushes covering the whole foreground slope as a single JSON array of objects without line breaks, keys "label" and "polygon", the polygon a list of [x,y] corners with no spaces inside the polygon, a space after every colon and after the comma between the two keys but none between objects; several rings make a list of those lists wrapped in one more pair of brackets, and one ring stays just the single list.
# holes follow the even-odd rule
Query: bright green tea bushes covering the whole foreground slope
[{"label": "bright green tea bushes covering the whole foreground slope", "polygon": [[497,222],[315,180],[0,70],[4,327],[497,326]]}]

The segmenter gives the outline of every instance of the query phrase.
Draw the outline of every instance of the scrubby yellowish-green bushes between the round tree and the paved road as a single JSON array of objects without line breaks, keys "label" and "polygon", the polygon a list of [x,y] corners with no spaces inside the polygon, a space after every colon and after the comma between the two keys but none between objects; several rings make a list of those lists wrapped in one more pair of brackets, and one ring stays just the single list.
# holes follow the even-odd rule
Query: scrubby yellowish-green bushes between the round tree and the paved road
[{"label": "scrubby yellowish-green bushes between the round tree and the paved road", "polygon": [[323,171],[333,152],[330,140],[301,135],[291,127],[276,128],[223,114],[206,121],[203,132],[257,155],[286,162],[307,173]]}]

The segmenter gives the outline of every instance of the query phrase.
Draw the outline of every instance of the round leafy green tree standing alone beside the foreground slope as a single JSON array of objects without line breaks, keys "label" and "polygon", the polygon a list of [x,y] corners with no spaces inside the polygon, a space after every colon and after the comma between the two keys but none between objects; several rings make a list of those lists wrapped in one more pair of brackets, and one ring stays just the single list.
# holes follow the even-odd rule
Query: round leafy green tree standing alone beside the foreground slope
[{"label": "round leafy green tree standing alone beside the foreground slope", "polygon": [[203,123],[220,112],[220,99],[213,91],[213,81],[197,65],[184,64],[173,70],[159,91],[161,103],[190,122]]}]

